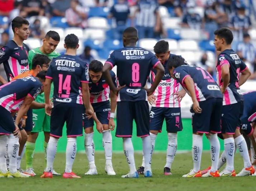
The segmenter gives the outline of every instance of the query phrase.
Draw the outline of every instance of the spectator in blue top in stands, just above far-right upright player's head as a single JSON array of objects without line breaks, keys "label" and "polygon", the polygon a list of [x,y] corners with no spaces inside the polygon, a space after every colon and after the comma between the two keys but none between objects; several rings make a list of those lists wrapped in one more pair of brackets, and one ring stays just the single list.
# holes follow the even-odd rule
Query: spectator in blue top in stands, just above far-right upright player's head
[{"label": "spectator in blue top in stands, just above far-right upright player's head", "polygon": [[232,17],[229,27],[234,31],[234,40],[242,41],[243,33],[248,33],[252,28],[250,17],[245,15],[245,7],[238,8],[237,15]]}]

